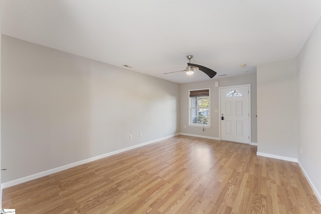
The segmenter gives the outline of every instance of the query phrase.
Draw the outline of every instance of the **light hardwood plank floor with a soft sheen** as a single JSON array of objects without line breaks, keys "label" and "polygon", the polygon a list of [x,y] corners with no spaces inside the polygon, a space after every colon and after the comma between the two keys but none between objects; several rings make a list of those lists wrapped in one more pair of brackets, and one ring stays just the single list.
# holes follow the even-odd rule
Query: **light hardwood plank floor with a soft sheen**
[{"label": "light hardwood plank floor with a soft sheen", "polygon": [[3,191],[16,213],[321,213],[297,163],[179,135]]}]

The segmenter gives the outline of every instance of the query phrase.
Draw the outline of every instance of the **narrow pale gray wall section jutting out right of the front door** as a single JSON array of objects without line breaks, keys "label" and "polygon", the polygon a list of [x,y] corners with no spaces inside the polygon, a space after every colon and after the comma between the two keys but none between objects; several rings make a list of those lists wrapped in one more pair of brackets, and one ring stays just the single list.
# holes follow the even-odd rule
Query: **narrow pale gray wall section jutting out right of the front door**
[{"label": "narrow pale gray wall section jutting out right of the front door", "polygon": [[296,58],[257,66],[257,151],[297,158]]}]

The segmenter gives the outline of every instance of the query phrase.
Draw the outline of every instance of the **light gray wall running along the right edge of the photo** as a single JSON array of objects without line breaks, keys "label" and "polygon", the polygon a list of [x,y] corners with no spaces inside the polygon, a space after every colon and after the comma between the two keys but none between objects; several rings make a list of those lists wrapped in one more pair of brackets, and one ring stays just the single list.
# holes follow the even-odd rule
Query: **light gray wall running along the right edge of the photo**
[{"label": "light gray wall running along the right edge of the photo", "polygon": [[[321,20],[297,57],[298,161],[321,201]],[[302,148],[302,154],[300,149]]]}]

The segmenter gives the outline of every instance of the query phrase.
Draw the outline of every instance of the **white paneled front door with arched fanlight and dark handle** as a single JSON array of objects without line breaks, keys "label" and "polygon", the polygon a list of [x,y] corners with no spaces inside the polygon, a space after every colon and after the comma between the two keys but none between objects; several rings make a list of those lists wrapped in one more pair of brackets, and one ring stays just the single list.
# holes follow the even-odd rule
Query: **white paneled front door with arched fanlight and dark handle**
[{"label": "white paneled front door with arched fanlight and dark handle", "polygon": [[220,88],[221,140],[250,143],[250,85]]}]

